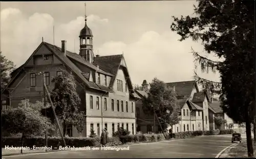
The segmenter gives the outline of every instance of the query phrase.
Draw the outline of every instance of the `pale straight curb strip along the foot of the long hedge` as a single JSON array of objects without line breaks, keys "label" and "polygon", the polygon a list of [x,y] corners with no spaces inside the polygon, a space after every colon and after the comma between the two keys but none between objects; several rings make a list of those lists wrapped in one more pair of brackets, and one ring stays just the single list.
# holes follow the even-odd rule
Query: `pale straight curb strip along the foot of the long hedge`
[{"label": "pale straight curb strip along the foot of the long hedge", "polygon": [[[122,146],[133,146],[133,145],[145,145],[145,144],[155,144],[155,143],[161,143],[161,142],[172,142],[172,141],[177,141],[177,140],[185,140],[185,139],[171,139],[171,140],[163,140],[163,141],[157,141],[157,142],[146,142],[146,143],[134,143],[134,144],[124,144],[124,145],[117,145],[117,146],[111,146],[111,147],[122,147]],[[91,148],[95,147],[101,147],[101,146],[90,146]],[[55,152],[60,152],[60,151],[65,151],[65,152],[70,152],[70,151],[80,151],[80,150],[51,150],[50,152],[30,152],[30,153],[23,153],[23,154],[6,154],[2,155],[2,157],[15,157],[15,156],[27,156],[27,155],[35,155],[35,154],[50,154],[50,153],[55,153]]]}]

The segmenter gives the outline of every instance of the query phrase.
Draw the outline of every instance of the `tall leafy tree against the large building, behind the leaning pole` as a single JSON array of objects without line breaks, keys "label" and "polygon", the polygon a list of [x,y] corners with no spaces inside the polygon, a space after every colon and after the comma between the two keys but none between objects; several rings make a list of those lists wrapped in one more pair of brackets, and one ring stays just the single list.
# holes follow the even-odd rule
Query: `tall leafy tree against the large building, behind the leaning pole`
[{"label": "tall leafy tree against the large building, behind the leaning pole", "polygon": [[[79,133],[82,132],[85,122],[84,112],[80,111],[81,100],[76,92],[76,83],[72,75],[63,72],[63,75],[52,79],[54,88],[51,91],[51,100],[59,120],[63,121],[63,136],[66,135],[67,125],[76,127]],[[50,114],[52,117],[52,114]]]}]

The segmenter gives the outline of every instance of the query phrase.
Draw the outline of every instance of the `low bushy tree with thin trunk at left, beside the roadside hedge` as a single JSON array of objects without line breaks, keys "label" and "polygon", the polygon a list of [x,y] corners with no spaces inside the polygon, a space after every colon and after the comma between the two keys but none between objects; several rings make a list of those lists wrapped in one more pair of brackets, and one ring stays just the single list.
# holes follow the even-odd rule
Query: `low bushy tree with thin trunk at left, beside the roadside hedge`
[{"label": "low bushy tree with thin trunk at left, beside the roadside hedge", "polygon": [[[9,134],[22,133],[21,144],[28,135],[42,135],[45,130],[55,130],[51,121],[41,115],[42,103],[32,104],[23,100],[17,108],[2,111],[2,130]],[[20,150],[20,153],[23,153]]]}]

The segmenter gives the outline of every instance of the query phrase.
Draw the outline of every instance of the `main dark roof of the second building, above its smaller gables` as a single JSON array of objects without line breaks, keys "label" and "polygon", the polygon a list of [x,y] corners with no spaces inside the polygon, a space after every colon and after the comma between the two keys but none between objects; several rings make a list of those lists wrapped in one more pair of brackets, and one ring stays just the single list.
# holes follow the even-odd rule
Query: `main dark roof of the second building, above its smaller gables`
[{"label": "main dark roof of the second building, above its smaller gables", "polygon": [[186,98],[189,98],[194,86],[196,87],[196,89],[198,91],[198,86],[197,86],[196,81],[171,82],[171,83],[166,83],[166,84],[170,87],[175,86],[175,93],[178,96],[185,96]]}]

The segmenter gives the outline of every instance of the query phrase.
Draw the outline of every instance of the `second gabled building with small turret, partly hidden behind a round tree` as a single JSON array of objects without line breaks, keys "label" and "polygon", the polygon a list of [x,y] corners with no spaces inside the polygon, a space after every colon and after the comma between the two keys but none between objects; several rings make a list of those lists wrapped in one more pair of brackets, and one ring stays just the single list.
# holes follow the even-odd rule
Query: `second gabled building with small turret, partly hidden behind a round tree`
[{"label": "second gabled building with small turret, partly hidden behind a round tree", "polygon": [[[136,90],[136,93],[141,97],[147,97],[146,81],[143,81],[143,91]],[[206,93],[200,93],[195,81],[182,81],[166,83],[172,87],[177,95],[178,105],[181,108],[179,124],[173,125],[173,132],[209,130],[213,127],[214,113],[210,113],[213,109],[208,106],[209,97]],[[136,102],[137,110],[137,125],[139,131],[144,133],[154,132],[154,117],[146,115],[143,111],[142,101]],[[212,109],[212,110],[211,110]],[[213,110],[214,111],[214,110]],[[158,121],[155,121],[156,133],[159,128]],[[210,125],[211,124],[211,125]],[[170,129],[170,128],[168,128]],[[151,130],[151,131],[150,131]]]}]

